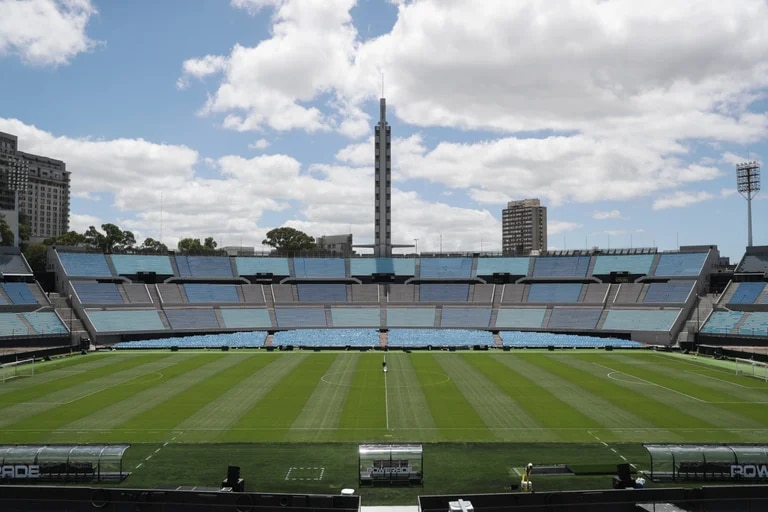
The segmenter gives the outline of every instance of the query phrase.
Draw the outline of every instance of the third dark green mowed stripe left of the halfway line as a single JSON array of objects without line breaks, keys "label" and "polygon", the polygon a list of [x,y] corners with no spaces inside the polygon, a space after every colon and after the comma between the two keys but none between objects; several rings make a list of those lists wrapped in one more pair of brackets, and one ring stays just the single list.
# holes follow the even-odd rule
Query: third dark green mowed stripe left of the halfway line
[{"label": "third dark green mowed stripe left of the halfway line", "polygon": [[[226,361],[233,362],[233,365],[220,368],[179,393],[163,397],[162,402],[122,423],[118,434],[135,431],[133,436],[142,441],[167,439],[179,423],[229,393],[233,383],[241,382],[282,357],[282,354],[273,353],[229,355],[233,357],[226,358]],[[156,433],[148,433],[149,430]]]}]

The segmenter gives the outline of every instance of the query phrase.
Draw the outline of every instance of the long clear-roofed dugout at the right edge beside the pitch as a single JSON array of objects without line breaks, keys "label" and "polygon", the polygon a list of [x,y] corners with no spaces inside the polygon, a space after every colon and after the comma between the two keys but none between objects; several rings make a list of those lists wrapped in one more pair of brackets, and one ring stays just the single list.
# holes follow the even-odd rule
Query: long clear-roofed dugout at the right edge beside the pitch
[{"label": "long clear-roofed dugout at the right edge beside the pitch", "polygon": [[768,446],[644,444],[653,480],[768,481]]}]

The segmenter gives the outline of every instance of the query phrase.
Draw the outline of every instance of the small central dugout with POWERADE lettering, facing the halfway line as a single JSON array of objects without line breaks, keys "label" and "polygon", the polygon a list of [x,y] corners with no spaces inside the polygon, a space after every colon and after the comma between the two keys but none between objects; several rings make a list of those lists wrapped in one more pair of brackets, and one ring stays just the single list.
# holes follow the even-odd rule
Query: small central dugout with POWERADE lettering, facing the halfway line
[{"label": "small central dugout with POWERADE lettering, facing the halfway line", "polygon": [[420,444],[361,444],[360,485],[421,485],[424,452]]}]

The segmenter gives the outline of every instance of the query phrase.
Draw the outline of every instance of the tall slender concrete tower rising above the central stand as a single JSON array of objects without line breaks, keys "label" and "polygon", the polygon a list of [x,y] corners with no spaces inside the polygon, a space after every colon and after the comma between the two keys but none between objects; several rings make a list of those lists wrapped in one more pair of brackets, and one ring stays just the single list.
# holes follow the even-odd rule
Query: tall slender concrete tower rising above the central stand
[{"label": "tall slender concrete tower rising above the central stand", "polygon": [[392,134],[387,124],[387,100],[379,100],[376,125],[376,169],[374,198],[374,247],[378,258],[392,256]]}]

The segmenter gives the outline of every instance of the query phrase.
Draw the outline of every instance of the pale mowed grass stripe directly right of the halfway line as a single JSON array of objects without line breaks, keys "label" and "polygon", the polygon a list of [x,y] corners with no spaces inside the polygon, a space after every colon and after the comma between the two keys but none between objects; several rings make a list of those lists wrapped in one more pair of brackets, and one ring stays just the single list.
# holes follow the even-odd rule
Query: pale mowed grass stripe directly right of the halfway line
[{"label": "pale mowed grass stripe directly right of the halfway line", "polygon": [[389,407],[389,428],[407,431],[423,441],[436,441],[439,433],[435,420],[429,413],[423,388],[411,365],[409,354],[387,353],[387,406]]}]

